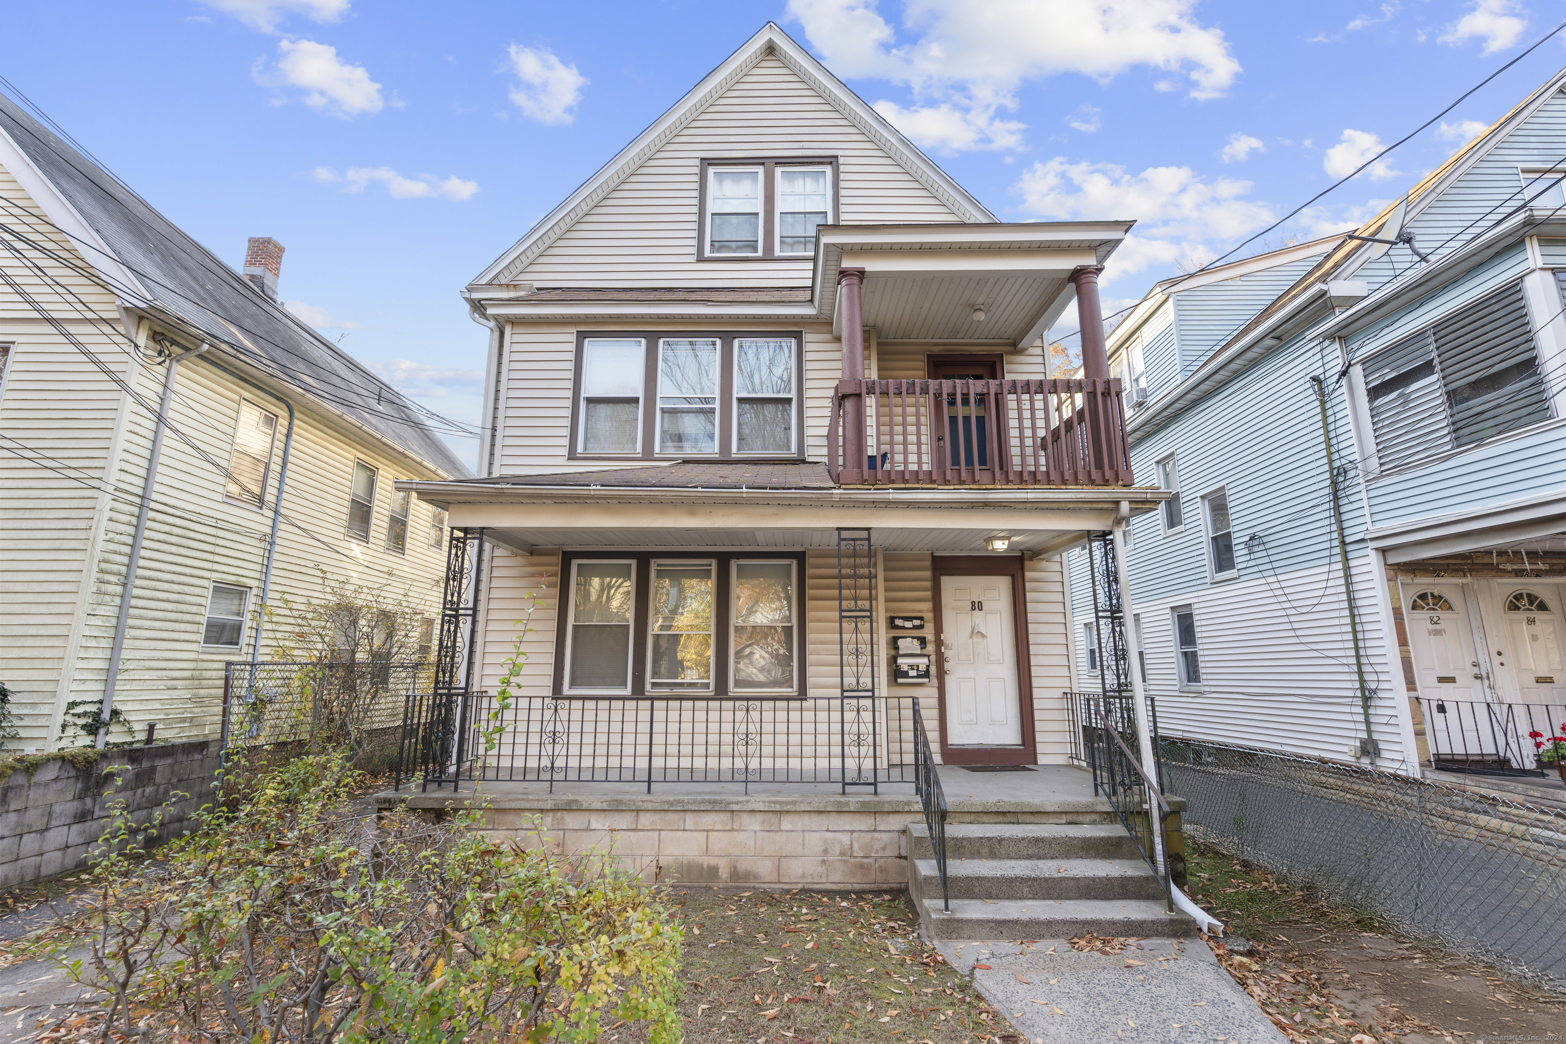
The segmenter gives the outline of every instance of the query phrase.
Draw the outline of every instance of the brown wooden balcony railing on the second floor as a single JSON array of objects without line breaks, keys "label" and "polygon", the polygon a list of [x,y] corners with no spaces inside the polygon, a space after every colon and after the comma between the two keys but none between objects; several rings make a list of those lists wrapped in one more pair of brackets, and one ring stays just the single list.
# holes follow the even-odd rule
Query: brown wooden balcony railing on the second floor
[{"label": "brown wooden balcony railing on the second floor", "polygon": [[[844,440],[853,410],[863,446]],[[1131,485],[1120,379],[839,380],[827,470],[843,485]]]}]

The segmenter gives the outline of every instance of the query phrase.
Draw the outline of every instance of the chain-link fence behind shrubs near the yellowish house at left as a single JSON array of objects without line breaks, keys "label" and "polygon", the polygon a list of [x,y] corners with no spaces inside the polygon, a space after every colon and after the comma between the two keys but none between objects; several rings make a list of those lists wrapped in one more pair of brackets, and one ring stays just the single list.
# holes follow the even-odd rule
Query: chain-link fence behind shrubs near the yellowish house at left
[{"label": "chain-link fence behind shrubs near the yellowish house at left", "polygon": [[349,747],[366,772],[396,767],[406,695],[428,692],[434,665],[420,662],[229,662],[224,748],[252,762]]}]

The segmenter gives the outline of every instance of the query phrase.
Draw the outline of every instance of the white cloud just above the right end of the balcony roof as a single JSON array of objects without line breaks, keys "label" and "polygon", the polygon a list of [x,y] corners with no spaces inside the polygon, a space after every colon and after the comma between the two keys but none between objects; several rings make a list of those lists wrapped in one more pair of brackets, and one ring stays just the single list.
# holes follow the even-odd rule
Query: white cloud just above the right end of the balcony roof
[{"label": "white cloud just above the right end of the balcony roof", "polygon": [[1201,265],[1215,257],[1212,241],[1240,239],[1273,221],[1268,207],[1242,199],[1250,182],[1207,180],[1190,167],[1129,174],[1112,163],[1055,157],[1024,171],[1016,189],[1023,208],[1038,218],[1137,219],[1135,233],[1109,258],[1106,283],[1154,265]]}]

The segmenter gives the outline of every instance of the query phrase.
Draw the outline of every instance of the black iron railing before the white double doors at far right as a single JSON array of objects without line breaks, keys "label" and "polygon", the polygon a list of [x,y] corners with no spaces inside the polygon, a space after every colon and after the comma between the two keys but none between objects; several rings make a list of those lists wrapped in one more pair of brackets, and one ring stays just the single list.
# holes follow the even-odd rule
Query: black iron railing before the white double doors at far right
[{"label": "black iron railing before the white double doors at far right", "polygon": [[1544,776],[1539,761],[1552,736],[1566,736],[1566,704],[1475,703],[1416,697],[1431,769],[1488,776]]}]

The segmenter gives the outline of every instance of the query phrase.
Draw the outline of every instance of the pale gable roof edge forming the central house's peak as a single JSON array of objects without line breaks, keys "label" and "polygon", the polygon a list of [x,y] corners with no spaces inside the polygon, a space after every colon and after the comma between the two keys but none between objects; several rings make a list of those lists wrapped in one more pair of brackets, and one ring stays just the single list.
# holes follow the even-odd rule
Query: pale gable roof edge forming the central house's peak
[{"label": "pale gable roof edge forming the central house's peak", "polygon": [[868,138],[880,146],[908,174],[924,185],[936,199],[952,208],[966,222],[996,221],[983,203],[974,199],[946,171],[926,157],[902,131],[886,122],[880,113],[866,105],[864,99],[850,91],[816,58],[800,47],[775,22],[767,22],[755,36],[730,55],[717,69],[706,74],[700,83],[680,99],[669,111],[636,136],[609,163],[565,197],[509,250],[485,268],[473,285],[512,282],[518,272],[567,229],[586,214],[598,200],[636,171],[647,158],[664,146],[686,124],[695,119],[708,105],[722,95],[736,80],[766,55],[775,55],[805,83],[814,88],[844,117],[855,124]]}]

